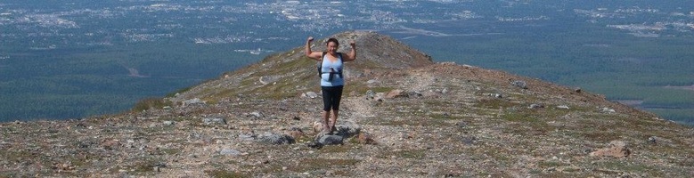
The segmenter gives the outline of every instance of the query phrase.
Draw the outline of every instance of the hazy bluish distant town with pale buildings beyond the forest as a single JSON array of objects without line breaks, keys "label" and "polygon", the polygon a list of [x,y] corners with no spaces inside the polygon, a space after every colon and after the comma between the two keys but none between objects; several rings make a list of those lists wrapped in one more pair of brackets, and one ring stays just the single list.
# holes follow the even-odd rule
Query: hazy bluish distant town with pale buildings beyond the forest
[{"label": "hazy bluish distant town with pale buildings beyond the forest", "polygon": [[[72,2],[72,3],[69,3]],[[508,11],[487,12],[484,5],[498,4]],[[34,4],[0,3],[0,35],[3,43],[33,50],[69,48],[75,45],[114,45],[162,39],[194,44],[257,43],[295,40],[282,34],[330,33],[339,29],[400,30],[429,28],[443,21],[560,20],[558,12],[573,12],[586,23],[604,23],[605,28],[624,30],[633,36],[691,36],[694,12],[654,7],[600,7],[590,9],[554,7],[553,12],[518,15],[525,8],[551,8],[551,4],[502,1],[275,1],[257,2],[161,2],[121,1],[84,4],[81,1]],[[571,8],[571,9],[569,9]],[[648,17],[648,18],[641,18]],[[671,32],[672,31],[672,32]],[[676,32],[676,33],[673,33]],[[242,49],[241,49],[242,50]],[[0,52],[7,53],[7,52]],[[4,54],[5,56],[7,54]]]}]

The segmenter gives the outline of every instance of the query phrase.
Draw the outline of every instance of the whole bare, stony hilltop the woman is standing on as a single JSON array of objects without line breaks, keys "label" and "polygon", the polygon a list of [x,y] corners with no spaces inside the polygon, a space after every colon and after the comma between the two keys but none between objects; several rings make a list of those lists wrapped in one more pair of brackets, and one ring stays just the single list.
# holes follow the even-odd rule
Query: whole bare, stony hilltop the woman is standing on
[{"label": "whole bare, stony hilltop the woman is standing on", "polygon": [[299,46],[124,114],[2,123],[0,177],[694,174],[690,126],[580,88],[434,62],[374,32],[332,37],[340,51],[357,44],[333,133],[316,123],[316,61]]}]

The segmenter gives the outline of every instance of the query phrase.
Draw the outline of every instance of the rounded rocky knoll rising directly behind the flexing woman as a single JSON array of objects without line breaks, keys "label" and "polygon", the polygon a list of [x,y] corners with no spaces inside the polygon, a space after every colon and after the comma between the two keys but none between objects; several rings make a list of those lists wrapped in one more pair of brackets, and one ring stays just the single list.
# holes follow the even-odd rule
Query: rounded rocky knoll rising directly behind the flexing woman
[{"label": "rounded rocky knoll rising directly behind the flexing woman", "polygon": [[[344,53],[350,49],[349,40],[355,40],[357,60],[347,63],[344,71],[347,77],[364,78],[374,72],[412,69],[433,63],[428,55],[377,33],[353,31],[331,37],[339,39],[339,52]],[[316,40],[313,50],[325,51],[326,40],[327,38]],[[275,99],[297,96],[298,93],[319,89],[316,67],[317,62],[306,58],[304,46],[300,46],[195,86],[190,91],[179,93],[174,101],[196,97],[205,101],[217,101],[239,94]]]}]

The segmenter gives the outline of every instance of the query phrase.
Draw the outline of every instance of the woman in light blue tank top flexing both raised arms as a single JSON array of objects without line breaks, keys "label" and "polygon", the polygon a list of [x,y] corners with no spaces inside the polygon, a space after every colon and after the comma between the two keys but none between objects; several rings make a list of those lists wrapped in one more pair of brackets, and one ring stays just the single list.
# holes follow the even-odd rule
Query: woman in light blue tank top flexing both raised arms
[{"label": "woman in light blue tank top flexing both raised arms", "polygon": [[350,41],[349,45],[352,46],[352,49],[345,55],[338,53],[338,39],[328,39],[325,43],[327,45],[326,52],[312,52],[311,43],[313,41],[314,37],[312,36],[306,40],[306,57],[321,61],[319,68],[323,93],[323,120],[321,122],[323,122],[323,132],[332,133],[335,131],[335,123],[338,121],[339,100],[342,98],[342,88],[345,85],[342,64],[345,61],[355,61],[356,44],[355,41]]}]

